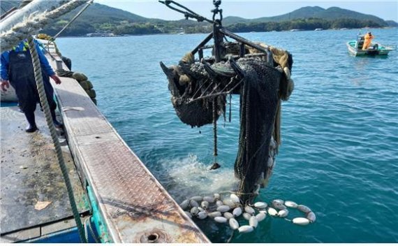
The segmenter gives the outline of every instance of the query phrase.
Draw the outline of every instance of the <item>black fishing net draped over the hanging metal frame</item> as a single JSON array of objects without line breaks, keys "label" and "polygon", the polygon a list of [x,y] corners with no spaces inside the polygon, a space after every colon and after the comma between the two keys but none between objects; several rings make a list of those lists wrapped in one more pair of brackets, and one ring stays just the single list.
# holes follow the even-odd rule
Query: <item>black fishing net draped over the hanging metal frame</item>
[{"label": "black fishing net draped over the hanging metal frame", "polygon": [[[288,56],[290,69],[293,60]],[[161,67],[168,76],[177,116],[192,127],[210,124],[214,116],[217,120],[226,112],[226,96],[240,94],[239,147],[234,168],[240,180],[237,194],[242,201],[251,201],[260,184],[270,178],[272,166],[268,160],[274,157],[270,141],[272,136],[279,136],[276,116],[280,115],[281,98],[288,98],[290,78],[279,64],[267,63],[260,56],[217,63],[182,59],[178,66],[167,68],[161,63]]]}]

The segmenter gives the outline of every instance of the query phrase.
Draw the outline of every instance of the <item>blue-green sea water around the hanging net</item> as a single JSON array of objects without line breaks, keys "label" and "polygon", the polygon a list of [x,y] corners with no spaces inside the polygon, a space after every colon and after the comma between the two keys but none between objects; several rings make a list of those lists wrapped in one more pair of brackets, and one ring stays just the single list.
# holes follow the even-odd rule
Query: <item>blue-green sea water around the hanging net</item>
[{"label": "blue-green sea water around the hanging net", "polygon": [[[309,226],[267,217],[232,243],[398,242],[398,52],[351,57],[346,41],[358,30],[241,34],[293,54],[295,91],[283,102],[282,141],[267,188],[274,198],[308,205]],[[374,29],[376,41],[397,44],[397,29]],[[176,64],[206,34],[59,38],[73,71],[89,76],[98,107],[177,202],[232,189],[239,135],[239,98],[232,122],[219,121],[219,162],[212,164],[212,126],[191,129],[175,115],[159,61]],[[290,212],[290,219],[299,216]],[[243,221],[242,221],[243,222]],[[247,223],[247,222],[246,222]],[[198,222],[214,243],[231,230]]]}]

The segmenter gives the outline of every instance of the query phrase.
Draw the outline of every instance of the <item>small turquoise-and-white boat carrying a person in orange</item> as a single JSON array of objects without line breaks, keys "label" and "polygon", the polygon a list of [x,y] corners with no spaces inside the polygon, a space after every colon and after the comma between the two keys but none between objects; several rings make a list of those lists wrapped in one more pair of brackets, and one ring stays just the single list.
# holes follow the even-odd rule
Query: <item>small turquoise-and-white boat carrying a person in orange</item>
[{"label": "small turquoise-and-white boat carrying a person in orange", "polygon": [[371,42],[367,50],[362,50],[364,45],[364,35],[358,35],[357,40],[348,41],[347,48],[351,55],[388,55],[388,52],[396,50],[391,46],[381,45],[380,43]]}]

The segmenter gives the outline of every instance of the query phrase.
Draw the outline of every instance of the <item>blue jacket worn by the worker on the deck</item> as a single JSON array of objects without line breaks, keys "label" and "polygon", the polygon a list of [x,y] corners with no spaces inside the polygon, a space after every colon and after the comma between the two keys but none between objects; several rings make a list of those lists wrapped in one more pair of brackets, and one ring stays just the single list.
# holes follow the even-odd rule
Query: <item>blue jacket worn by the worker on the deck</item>
[{"label": "blue jacket worn by the worker on the deck", "polygon": [[[54,70],[52,70],[52,67],[47,61],[47,58],[45,57],[43,51],[41,50],[38,41],[34,41],[36,44],[36,50],[38,53],[38,58],[40,59],[40,65],[44,69],[45,73],[47,75],[51,76],[54,75]],[[27,50],[27,41],[21,41],[17,46],[13,48],[16,52],[21,52],[24,50]],[[10,64],[10,52],[12,50],[8,50],[6,52],[3,52],[1,54],[1,66],[0,66],[0,75],[2,80],[8,80],[8,64]]]}]

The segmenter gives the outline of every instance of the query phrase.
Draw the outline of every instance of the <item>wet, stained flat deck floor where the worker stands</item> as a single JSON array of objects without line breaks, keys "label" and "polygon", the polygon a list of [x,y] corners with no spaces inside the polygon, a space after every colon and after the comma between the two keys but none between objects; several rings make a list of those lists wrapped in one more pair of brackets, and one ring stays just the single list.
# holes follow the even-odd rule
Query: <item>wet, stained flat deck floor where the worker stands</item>
[{"label": "wet, stained flat deck floor where the worker stands", "polygon": [[[39,131],[26,133],[23,113],[17,107],[1,113],[1,234],[37,226],[73,215],[57,155],[43,112],[36,110]],[[80,212],[89,210],[66,141],[61,147]],[[38,202],[50,202],[42,210]]]}]

